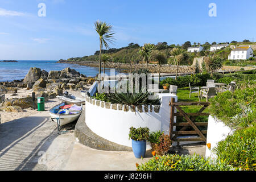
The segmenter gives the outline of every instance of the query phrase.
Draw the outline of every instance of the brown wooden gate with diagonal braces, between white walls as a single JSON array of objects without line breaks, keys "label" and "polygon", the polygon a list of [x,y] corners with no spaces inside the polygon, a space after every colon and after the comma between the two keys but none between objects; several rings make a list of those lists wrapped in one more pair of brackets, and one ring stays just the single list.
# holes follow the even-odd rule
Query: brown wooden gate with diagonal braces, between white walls
[{"label": "brown wooden gate with diagonal braces, between white walls", "polygon": [[[185,111],[182,110],[180,106],[196,106],[201,105],[203,106],[198,113],[185,113]],[[175,102],[175,99],[172,98],[170,102],[171,106],[171,118],[170,118],[170,138],[172,141],[177,142],[177,145],[179,145],[179,142],[185,142],[185,141],[203,141],[207,142],[207,138],[204,136],[204,134],[207,134],[207,130],[200,131],[197,126],[208,126],[208,122],[194,122],[196,116],[200,115],[206,115],[209,116],[209,113],[202,113],[208,106],[210,105],[210,102]],[[175,113],[175,108],[179,113]],[[175,116],[183,116],[187,122],[174,122]],[[192,116],[193,118],[189,118],[189,116]],[[174,126],[183,126],[179,131],[174,131]],[[188,127],[191,126],[194,130],[187,131]],[[177,138],[181,135],[191,135],[191,134],[197,134],[199,137],[197,138]]]}]

